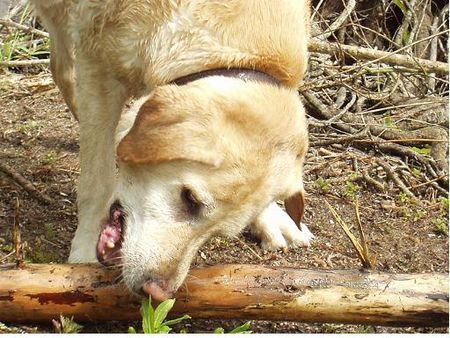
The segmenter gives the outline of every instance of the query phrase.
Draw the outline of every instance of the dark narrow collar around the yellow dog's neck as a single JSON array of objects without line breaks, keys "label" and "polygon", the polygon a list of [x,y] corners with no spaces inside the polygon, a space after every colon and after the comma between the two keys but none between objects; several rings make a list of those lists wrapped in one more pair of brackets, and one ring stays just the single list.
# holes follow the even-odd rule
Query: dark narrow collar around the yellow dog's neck
[{"label": "dark narrow collar around the yellow dog's neck", "polygon": [[243,81],[267,82],[277,86],[281,84],[281,81],[274,78],[272,75],[261,72],[259,70],[245,69],[245,68],[218,68],[218,69],[204,70],[198,73],[193,73],[179,77],[178,79],[173,80],[171,83],[174,83],[178,86],[182,86],[188,84],[189,82],[203,79],[208,76],[234,77],[237,79],[241,79]]}]

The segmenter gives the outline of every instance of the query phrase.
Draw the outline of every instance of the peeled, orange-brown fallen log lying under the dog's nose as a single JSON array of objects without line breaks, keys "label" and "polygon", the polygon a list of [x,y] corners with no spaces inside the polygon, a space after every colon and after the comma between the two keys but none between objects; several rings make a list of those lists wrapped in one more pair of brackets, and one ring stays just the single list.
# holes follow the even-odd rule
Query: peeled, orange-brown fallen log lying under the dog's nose
[{"label": "peeled, orange-brown fallen log lying under the dog's nose", "polygon": [[[172,312],[384,326],[448,326],[448,275],[317,271],[257,265],[191,270]],[[136,320],[120,271],[98,265],[0,265],[0,322]]]}]

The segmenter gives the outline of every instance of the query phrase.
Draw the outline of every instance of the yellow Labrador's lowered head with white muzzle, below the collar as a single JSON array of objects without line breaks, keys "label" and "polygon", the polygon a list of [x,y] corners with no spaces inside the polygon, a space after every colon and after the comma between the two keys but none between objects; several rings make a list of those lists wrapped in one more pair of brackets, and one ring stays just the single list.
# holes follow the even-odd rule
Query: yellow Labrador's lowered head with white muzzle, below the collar
[{"label": "yellow Labrador's lowered head with white muzzle, below the collar", "polygon": [[294,90],[210,77],[159,87],[132,111],[98,244],[101,261],[120,256],[131,290],[168,297],[202,243],[239,233],[274,200],[300,222],[308,140]]}]

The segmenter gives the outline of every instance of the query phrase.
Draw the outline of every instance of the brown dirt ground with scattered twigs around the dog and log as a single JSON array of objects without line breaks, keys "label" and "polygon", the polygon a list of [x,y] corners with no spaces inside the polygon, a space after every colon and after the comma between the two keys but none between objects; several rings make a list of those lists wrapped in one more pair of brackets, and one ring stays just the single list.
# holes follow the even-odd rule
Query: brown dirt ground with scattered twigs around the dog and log
[{"label": "brown dirt ground with scattered twigs around the dog and log", "polygon": [[[30,85],[39,79],[39,87]],[[48,85],[42,86],[43,79]],[[12,82],[14,85],[11,85]],[[22,85],[27,82],[26,85]],[[44,81],[44,82],[45,82]],[[11,82],[11,83],[10,83]],[[0,263],[13,260],[11,229],[17,214],[26,242],[26,259],[35,263],[65,262],[76,227],[78,125],[71,117],[48,73],[26,79],[0,78],[0,161],[13,168],[41,193],[53,200],[45,205],[15,180],[0,171]],[[237,239],[213,238],[197,255],[194,265],[251,263],[299,268],[358,269],[355,249],[324,203],[328,201],[349,225],[356,224],[358,198],[362,227],[375,259],[375,269],[390,273],[448,273],[448,204],[438,199],[414,201],[397,189],[380,193],[365,182],[353,180],[358,170],[352,148],[333,155],[326,165],[320,149],[311,148],[305,167],[308,193],[305,223],[315,234],[312,246],[288,252],[265,252],[244,232]],[[16,210],[16,201],[19,209]],[[448,201],[448,200],[447,200]],[[448,203],[448,202],[447,202]],[[355,230],[355,228],[353,228]],[[355,232],[356,233],[356,232]],[[189,332],[233,328],[242,321],[192,319]],[[135,326],[136,323],[131,323]],[[126,332],[130,323],[86,325],[83,332]],[[45,326],[7,325],[10,332],[51,332]],[[448,332],[446,328],[387,328],[357,325],[254,321],[255,332]],[[2,329],[0,328],[0,332]]]}]

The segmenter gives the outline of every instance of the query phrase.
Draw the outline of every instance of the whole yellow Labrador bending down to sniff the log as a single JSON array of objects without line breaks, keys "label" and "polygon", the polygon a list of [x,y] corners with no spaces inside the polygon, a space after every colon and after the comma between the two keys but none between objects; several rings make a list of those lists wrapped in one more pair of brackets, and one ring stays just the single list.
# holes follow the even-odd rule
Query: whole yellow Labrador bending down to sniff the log
[{"label": "whole yellow Labrador bending down to sniff the log", "polygon": [[30,1],[80,124],[69,262],[120,265],[161,301],[213,235],[249,225],[265,249],[310,244],[308,0]]}]

